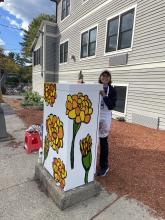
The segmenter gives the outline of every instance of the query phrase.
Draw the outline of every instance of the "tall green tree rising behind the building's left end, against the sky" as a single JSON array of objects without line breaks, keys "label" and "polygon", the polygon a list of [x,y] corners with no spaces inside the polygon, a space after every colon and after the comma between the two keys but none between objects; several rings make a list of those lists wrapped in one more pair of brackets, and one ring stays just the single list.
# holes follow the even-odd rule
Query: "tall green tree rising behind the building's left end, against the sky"
[{"label": "tall green tree rising behind the building's left end, against the sky", "polygon": [[43,20],[54,21],[55,17],[53,15],[40,14],[38,17],[34,18],[29,24],[28,31],[23,30],[23,41],[20,44],[22,46],[22,54],[26,58],[31,57],[30,47]]}]

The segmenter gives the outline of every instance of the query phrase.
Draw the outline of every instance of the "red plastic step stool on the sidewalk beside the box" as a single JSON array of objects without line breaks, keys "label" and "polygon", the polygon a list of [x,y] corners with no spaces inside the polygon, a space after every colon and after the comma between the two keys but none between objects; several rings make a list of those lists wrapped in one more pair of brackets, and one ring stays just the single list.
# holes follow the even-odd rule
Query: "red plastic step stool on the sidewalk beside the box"
[{"label": "red plastic step stool on the sidewalk beside the box", "polygon": [[38,132],[25,133],[25,150],[28,154],[37,151],[42,147],[41,138]]}]

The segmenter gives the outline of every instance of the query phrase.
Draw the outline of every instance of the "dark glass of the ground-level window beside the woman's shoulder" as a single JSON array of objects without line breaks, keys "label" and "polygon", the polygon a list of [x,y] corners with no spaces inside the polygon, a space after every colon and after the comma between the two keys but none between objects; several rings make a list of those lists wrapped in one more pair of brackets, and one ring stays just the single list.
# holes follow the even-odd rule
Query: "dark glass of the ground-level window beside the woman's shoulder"
[{"label": "dark glass of the ground-level window beside the woman's shoulder", "polygon": [[117,101],[116,101],[116,107],[114,108],[114,111],[125,114],[125,106],[126,106],[126,99],[127,99],[127,86],[114,85],[114,88],[117,92]]}]

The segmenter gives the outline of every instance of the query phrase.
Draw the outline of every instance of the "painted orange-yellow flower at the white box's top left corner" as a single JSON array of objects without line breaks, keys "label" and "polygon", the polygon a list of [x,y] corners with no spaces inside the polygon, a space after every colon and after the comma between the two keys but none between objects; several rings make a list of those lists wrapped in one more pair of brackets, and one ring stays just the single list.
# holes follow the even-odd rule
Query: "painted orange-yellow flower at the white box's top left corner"
[{"label": "painted orange-yellow flower at the white box's top left corner", "polygon": [[53,106],[56,100],[56,84],[45,83],[44,84],[44,99],[47,105]]}]

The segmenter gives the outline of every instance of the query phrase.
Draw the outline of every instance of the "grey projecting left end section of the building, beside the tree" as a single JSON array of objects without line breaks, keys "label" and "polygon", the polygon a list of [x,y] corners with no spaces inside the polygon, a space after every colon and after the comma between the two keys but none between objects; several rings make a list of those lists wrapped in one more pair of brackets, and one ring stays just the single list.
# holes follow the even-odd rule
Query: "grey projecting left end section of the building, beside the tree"
[{"label": "grey projecting left end section of the building, beside the tree", "polygon": [[[42,45],[43,35],[43,45]],[[44,82],[58,81],[59,73],[59,31],[57,25],[45,21],[42,25],[34,51],[41,47],[41,65],[33,66],[33,91],[44,94]],[[43,47],[43,50],[42,50]]]}]

